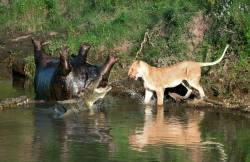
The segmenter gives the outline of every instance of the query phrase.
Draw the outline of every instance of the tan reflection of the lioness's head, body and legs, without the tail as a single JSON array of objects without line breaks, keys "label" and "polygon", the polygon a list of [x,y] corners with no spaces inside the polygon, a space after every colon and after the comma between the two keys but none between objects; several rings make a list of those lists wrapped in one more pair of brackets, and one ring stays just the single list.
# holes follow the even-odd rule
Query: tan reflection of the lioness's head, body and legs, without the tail
[{"label": "tan reflection of the lioness's head, body and legs, without the tail", "polygon": [[164,118],[164,109],[158,108],[157,115],[152,115],[152,109],[145,109],[145,123],[142,131],[136,131],[130,137],[133,146],[142,148],[150,144],[176,144],[195,145],[201,141],[199,123],[203,118],[203,113],[194,111],[188,112],[188,120],[180,121],[175,116]]}]

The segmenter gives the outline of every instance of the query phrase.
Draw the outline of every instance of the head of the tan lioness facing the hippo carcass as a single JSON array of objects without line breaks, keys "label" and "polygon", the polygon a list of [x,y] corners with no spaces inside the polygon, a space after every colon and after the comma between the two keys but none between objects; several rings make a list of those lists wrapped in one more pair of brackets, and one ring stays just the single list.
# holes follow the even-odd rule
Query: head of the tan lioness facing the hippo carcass
[{"label": "head of the tan lioness facing the hippo carcass", "polygon": [[133,78],[135,80],[137,80],[139,77],[142,77],[143,75],[143,66],[142,66],[143,62],[142,61],[134,61],[133,64],[131,65],[131,67],[129,68],[128,71],[128,76],[130,78]]}]

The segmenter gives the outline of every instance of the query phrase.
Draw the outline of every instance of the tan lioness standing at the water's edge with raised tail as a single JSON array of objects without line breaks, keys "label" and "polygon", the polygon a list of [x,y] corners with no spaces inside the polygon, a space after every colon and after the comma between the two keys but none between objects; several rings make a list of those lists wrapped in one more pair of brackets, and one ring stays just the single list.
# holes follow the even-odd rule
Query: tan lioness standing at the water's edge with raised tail
[{"label": "tan lioness standing at the water's edge with raised tail", "polygon": [[[172,66],[158,68],[150,66],[144,61],[136,60],[131,65],[128,71],[128,76],[130,78],[134,78],[135,80],[139,77],[143,79],[145,87],[145,104],[150,102],[153,91],[155,91],[157,95],[157,105],[162,106],[164,89],[183,84],[183,80],[186,80],[191,87],[197,89],[202,99],[205,97],[205,93],[199,83],[201,77],[201,67],[218,64],[224,57],[228,47],[229,45],[227,45],[224,49],[222,56],[214,62],[203,63],[183,61]],[[185,86],[185,84],[183,85]],[[188,92],[184,98],[188,98],[192,90],[187,86],[185,87],[188,89]]]}]

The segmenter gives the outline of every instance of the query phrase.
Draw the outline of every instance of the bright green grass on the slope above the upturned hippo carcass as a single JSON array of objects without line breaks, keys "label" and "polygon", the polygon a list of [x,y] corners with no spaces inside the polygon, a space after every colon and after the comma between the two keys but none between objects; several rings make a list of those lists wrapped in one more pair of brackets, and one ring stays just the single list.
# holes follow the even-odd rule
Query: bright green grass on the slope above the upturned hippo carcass
[{"label": "bright green grass on the slope above the upturned hippo carcass", "polygon": [[[170,26],[171,33],[177,34],[179,33],[177,30],[182,28],[183,23],[191,17],[193,12],[197,11],[193,2],[183,3],[170,0],[66,0],[63,2],[59,0],[14,0],[9,5],[1,5],[0,13],[3,16],[0,22],[3,25],[0,30],[24,33],[62,30],[66,37],[63,40],[53,41],[66,44],[71,51],[76,51],[81,42],[90,42],[96,49],[101,46],[111,49],[124,40],[135,44],[134,50],[137,50],[146,29],[151,29],[162,21]],[[185,15],[182,12],[185,12]],[[172,15],[167,15],[169,13]],[[167,18],[172,19],[171,22],[167,22]],[[175,27],[178,29],[175,30]],[[178,39],[171,34],[167,39],[175,41],[171,40],[173,37],[175,40]],[[168,41],[160,40],[160,42]],[[54,44],[57,45],[57,43]],[[171,47],[177,48],[177,46]]]}]

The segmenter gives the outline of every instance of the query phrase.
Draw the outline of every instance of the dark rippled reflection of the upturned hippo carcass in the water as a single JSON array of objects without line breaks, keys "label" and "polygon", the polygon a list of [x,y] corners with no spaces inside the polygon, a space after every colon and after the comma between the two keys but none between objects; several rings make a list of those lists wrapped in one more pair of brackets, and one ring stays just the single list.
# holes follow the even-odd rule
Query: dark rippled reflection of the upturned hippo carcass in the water
[{"label": "dark rippled reflection of the upturned hippo carcass in the water", "polygon": [[[33,147],[37,148],[35,154],[41,155],[37,161],[43,161],[46,157],[49,161],[74,161],[74,158],[86,155],[86,146],[98,150],[101,144],[109,152],[115,149],[104,112],[85,110],[55,119],[53,110],[40,107],[34,116],[36,131]],[[53,155],[46,156],[49,153]]]}]

